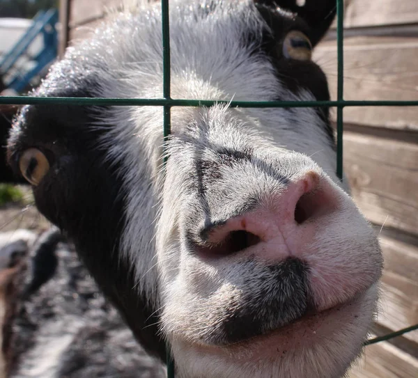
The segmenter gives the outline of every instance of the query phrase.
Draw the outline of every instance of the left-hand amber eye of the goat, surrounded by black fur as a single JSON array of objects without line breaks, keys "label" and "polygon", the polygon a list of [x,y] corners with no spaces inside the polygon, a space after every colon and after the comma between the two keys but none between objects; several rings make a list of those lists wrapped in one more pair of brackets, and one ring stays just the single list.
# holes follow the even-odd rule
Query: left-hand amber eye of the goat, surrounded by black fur
[{"label": "left-hand amber eye of the goat, surrounded by black fur", "polygon": [[40,150],[29,148],[20,157],[19,168],[23,177],[36,187],[49,171],[49,162]]}]

